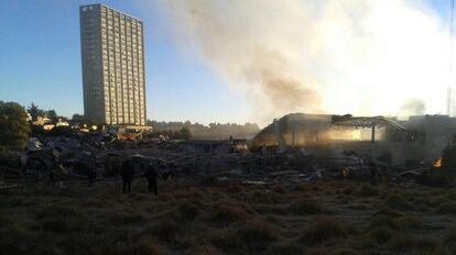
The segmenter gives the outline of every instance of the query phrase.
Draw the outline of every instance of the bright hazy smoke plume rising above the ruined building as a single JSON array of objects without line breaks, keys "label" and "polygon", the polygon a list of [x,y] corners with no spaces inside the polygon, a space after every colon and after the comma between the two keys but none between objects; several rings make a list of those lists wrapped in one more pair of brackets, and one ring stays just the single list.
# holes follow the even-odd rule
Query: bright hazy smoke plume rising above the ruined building
[{"label": "bright hazy smoke plume rising above the ruined building", "polygon": [[445,111],[448,29],[419,1],[163,4],[182,46],[245,92],[260,123],[290,112],[397,115],[413,101]]}]

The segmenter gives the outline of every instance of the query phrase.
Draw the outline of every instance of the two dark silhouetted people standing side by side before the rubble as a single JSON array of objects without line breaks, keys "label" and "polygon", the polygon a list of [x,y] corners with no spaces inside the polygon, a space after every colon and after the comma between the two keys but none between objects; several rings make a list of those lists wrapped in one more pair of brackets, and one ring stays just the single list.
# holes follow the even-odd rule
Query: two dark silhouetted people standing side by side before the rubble
[{"label": "two dark silhouetted people standing side by side before the rubble", "polygon": [[[123,193],[131,191],[131,182],[134,178],[134,171],[137,168],[137,163],[131,159],[123,162],[122,167],[120,168],[120,176],[122,177],[122,191]],[[153,164],[140,163],[140,169],[144,170],[144,176],[148,179],[149,192],[154,192],[155,196],[158,192],[156,184],[156,169]]]}]

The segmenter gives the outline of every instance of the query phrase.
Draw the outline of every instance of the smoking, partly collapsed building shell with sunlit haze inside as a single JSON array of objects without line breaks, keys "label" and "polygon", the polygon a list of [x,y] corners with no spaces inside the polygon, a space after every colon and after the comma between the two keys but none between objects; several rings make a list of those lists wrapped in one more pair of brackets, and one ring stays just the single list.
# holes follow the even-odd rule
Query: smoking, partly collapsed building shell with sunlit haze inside
[{"label": "smoking, partly collapsed building shell with sunlit haze inside", "polygon": [[[298,148],[318,157],[367,157],[390,166],[438,164],[456,137],[456,118],[419,115],[409,120],[292,113],[274,120],[252,141],[252,151]],[[437,163],[436,163],[437,162]]]}]

